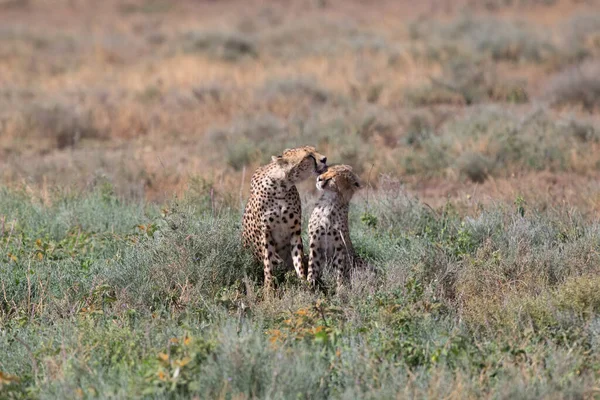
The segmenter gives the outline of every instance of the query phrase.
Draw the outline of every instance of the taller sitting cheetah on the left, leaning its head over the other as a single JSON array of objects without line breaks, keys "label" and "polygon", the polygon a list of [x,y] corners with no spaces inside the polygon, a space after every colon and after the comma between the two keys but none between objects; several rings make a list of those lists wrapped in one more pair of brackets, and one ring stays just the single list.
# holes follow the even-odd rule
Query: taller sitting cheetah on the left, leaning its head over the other
[{"label": "taller sitting cheetah on the left, leaning its head over the other", "polygon": [[293,264],[306,278],[301,234],[302,209],[295,184],[327,169],[327,158],[311,146],[287,149],[252,176],[242,221],[243,246],[264,264],[265,286],[274,264]]}]

